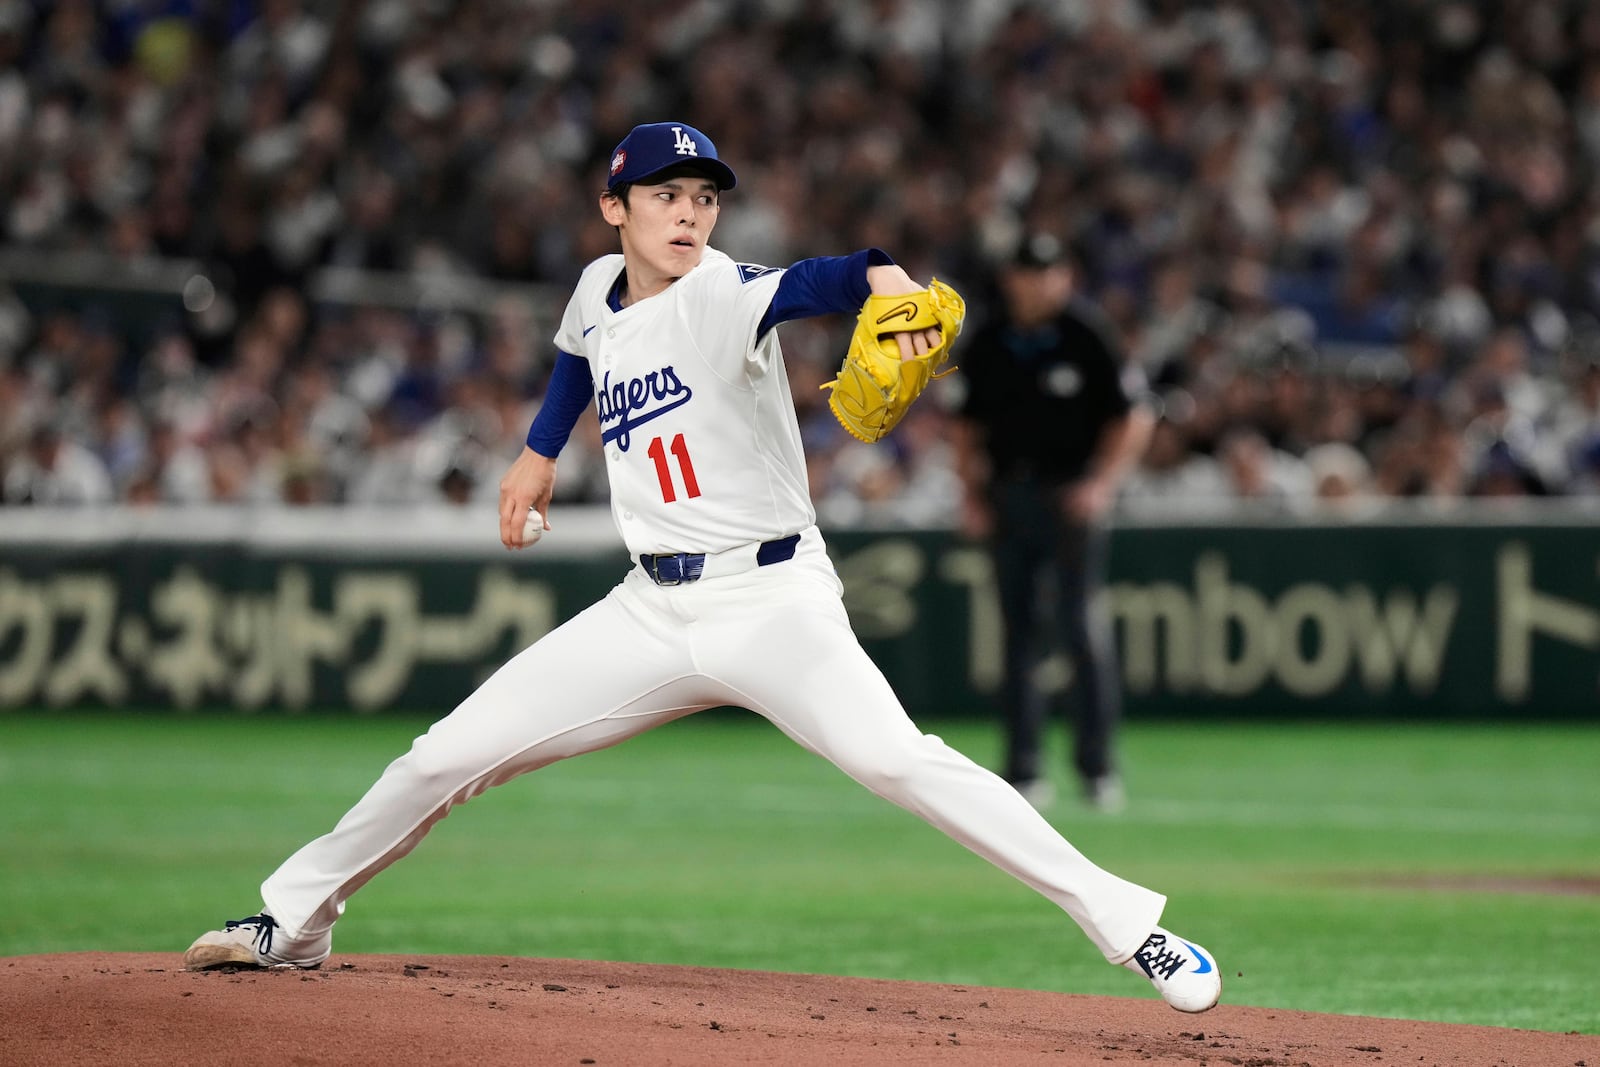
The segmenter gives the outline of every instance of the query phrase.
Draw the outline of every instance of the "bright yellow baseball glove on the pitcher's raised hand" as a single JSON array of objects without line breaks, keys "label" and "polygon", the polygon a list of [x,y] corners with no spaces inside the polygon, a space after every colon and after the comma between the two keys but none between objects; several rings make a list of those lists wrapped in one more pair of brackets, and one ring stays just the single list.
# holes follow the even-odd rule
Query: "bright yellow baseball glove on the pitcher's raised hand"
[{"label": "bright yellow baseball glove on the pitcher's raised hand", "polygon": [[[965,318],[966,301],[938,278],[915,293],[869,296],[838,378],[822,386],[834,390],[827,406],[840,426],[869,445],[883,440],[938,378]],[[939,344],[925,355],[902,360],[894,334],[930,326],[938,326]]]}]

